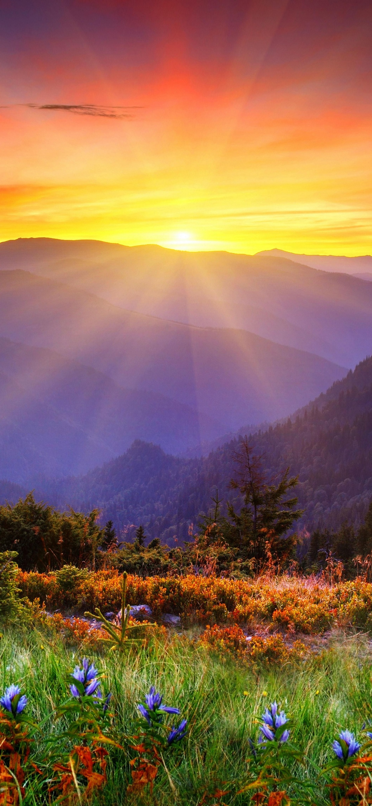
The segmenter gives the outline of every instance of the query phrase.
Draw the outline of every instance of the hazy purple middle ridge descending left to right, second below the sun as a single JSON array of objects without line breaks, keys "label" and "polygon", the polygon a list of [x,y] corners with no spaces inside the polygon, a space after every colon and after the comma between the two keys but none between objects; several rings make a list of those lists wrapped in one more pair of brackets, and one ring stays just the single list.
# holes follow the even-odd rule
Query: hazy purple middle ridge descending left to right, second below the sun
[{"label": "hazy purple middle ridge descending left to right, second below the sun", "polygon": [[[120,387],[188,406],[197,413],[198,441],[213,430],[217,436],[242,422],[283,417],[345,374],[316,355],[246,330],[192,327],[122,310],[23,270],[0,272],[0,336],[48,347]],[[190,441],[183,427],[180,418],[167,417],[151,441],[174,428],[184,450]]]}]

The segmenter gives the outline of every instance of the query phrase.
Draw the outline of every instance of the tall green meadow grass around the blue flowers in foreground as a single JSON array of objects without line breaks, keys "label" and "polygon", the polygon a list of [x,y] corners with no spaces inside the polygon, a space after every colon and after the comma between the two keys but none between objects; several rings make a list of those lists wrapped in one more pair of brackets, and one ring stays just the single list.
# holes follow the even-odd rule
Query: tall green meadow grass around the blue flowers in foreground
[{"label": "tall green meadow grass around the blue flowers in foreground", "polygon": [[[42,648],[43,646],[43,648]],[[229,788],[223,782],[243,781],[249,737],[256,737],[259,717],[266,704],[277,700],[294,722],[291,741],[308,757],[298,775],[315,779],[314,762],[324,766],[333,758],[331,745],[340,729],[359,734],[364,721],[372,720],[371,652],[366,636],[335,636],[327,650],[300,668],[289,665],[254,675],[234,660],[225,662],[176,635],[165,645],[157,640],[138,654],[91,654],[104,673],[105,692],[113,692],[115,729],[124,736],[134,731],[135,704],[151,684],[164,694],[167,704],[177,705],[188,718],[188,735],[167,756],[167,768],[178,795],[172,791],[166,771],[159,770],[154,794],[144,803],[199,804],[205,791]],[[81,659],[79,651],[61,642],[48,642],[34,630],[8,630],[0,641],[0,688],[20,683],[29,697],[27,713],[43,730],[35,743],[35,761],[42,758],[48,731],[62,729],[53,721],[57,705],[68,693],[66,676]],[[247,692],[244,694],[244,692]],[[267,692],[267,696],[264,695]],[[110,751],[108,783],[93,803],[124,804],[130,783],[129,756]],[[249,801],[236,796],[238,785],[224,796],[225,803]],[[317,791],[321,801],[321,791]],[[326,797],[324,796],[324,802]],[[43,804],[41,791],[29,788],[24,804]],[[48,800],[45,800],[47,803]],[[210,804],[214,800],[209,801]]]}]

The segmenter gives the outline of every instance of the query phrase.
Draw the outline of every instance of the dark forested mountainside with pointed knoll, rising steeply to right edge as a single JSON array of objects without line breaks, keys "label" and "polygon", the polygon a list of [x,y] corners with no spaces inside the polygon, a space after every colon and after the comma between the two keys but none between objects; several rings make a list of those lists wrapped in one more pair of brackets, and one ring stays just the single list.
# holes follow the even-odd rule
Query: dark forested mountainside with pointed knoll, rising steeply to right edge
[{"label": "dark forested mountainside with pointed knoll, rising steeply to right edge", "polygon": [[[290,467],[300,477],[297,492],[304,516],[300,529],[358,525],[372,498],[372,358],[338,381],[287,422],[250,438],[272,478]],[[147,534],[171,545],[187,539],[188,527],[207,512],[216,489],[229,490],[239,438],[208,456],[180,459],[159,447],[134,442],[126,453],[80,478],[46,484],[43,495],[57,505],[101,507],[118,530],[143,523]]]}]

